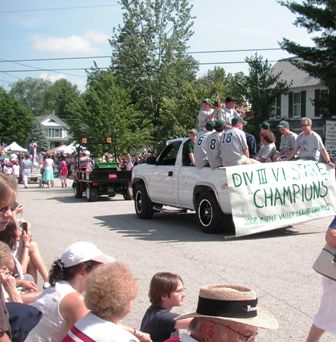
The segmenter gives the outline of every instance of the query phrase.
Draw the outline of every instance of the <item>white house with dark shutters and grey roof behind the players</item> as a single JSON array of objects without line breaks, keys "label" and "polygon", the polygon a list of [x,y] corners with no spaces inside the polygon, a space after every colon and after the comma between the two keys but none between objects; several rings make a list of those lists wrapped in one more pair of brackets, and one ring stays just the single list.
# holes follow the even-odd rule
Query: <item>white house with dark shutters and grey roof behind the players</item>
[{"label": "white house with dark shutters and grey roof behind the players", "polygon": [[328,88],[321,80],[291,64],[290,60],[279,60],[272,67],[272,72],[281,73],[281,80],[287,81],[290,87],[287,94],[275,99],[271,119],[288,120],[291,128],[299,130],[300,118],[308,116],[313,120],[313,129],[323,135],[322,114],[326,109],[321,101],[328,97]]}]

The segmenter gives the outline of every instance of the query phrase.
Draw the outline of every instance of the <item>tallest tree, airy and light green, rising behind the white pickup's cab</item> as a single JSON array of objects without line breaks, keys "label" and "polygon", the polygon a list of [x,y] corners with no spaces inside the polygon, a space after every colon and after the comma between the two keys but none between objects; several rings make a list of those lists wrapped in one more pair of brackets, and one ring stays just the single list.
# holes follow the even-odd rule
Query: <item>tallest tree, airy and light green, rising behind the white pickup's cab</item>
[{"label": "tallest tree, airy and light green, rising behind the white pickup's cab", "polygon": [[[123,24],[110,40],[112,70],[132,102],[150,119],[155,141],[167,137],[163,102],[179,98],[195,82],[197,63],[187,54],[193,34],[188,0],[121,0]],[[192,115],[192,113],[189,113]]]}]

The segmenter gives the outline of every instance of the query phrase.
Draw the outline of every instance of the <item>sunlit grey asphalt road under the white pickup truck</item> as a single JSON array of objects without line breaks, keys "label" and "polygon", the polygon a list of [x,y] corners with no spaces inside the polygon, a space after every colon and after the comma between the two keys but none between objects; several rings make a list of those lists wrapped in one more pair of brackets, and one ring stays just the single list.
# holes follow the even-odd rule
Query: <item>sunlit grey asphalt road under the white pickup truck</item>
[{"label": "sunlit grey asphalt road under the white pickup truck", "polygon": [[[48,268],[75,241],[91,241],[129,265],[139,283],[138,297],[124,323],[139,327],[149,306],[148,286],[159,271],[178,273],[186,287],[185,305],[194,311],[205,284],[241,284],[256,290],[259,305],[278,319],[275,331],[260,330],[258,341],[304,341],[317,312],[321,277],[312,264],[324,245],[331,217],[254,236],[226,239],[200,231],[194,214],[165,213],[140,220],[133,201],[122,197],[89,203],[75,199],[72,188],[29,189],[19,185],[23,217]],[[321,341],[335,341],[325,334]]]}]

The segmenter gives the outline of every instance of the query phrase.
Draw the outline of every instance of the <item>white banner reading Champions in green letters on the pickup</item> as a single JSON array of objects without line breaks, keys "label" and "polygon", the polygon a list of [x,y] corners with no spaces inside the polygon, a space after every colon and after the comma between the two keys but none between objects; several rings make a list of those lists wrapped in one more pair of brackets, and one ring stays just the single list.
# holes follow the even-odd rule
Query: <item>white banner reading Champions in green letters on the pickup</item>
[{"label": "white banner reading Champions in green letters on the pickup", "polygon": [[336,213],[335,169],[313,161],[226,168],[236,235],[331,216]]}]

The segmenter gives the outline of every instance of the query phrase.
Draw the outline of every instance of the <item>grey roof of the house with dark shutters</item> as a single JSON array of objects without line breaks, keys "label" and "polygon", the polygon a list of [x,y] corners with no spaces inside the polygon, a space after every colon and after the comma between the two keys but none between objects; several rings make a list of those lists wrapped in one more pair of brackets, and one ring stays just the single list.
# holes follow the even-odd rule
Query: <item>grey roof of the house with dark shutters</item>
[{"label": "grey roof of the house with dark shutters", "polygon": [[273,67],[274,74],[281,73],[280,78],[291,84],[290,88],[313,87],[321,85],[320,79],[310,76],[306,71],[297,68],[290,61],[293,58],[281,59],[277,61]]}]

